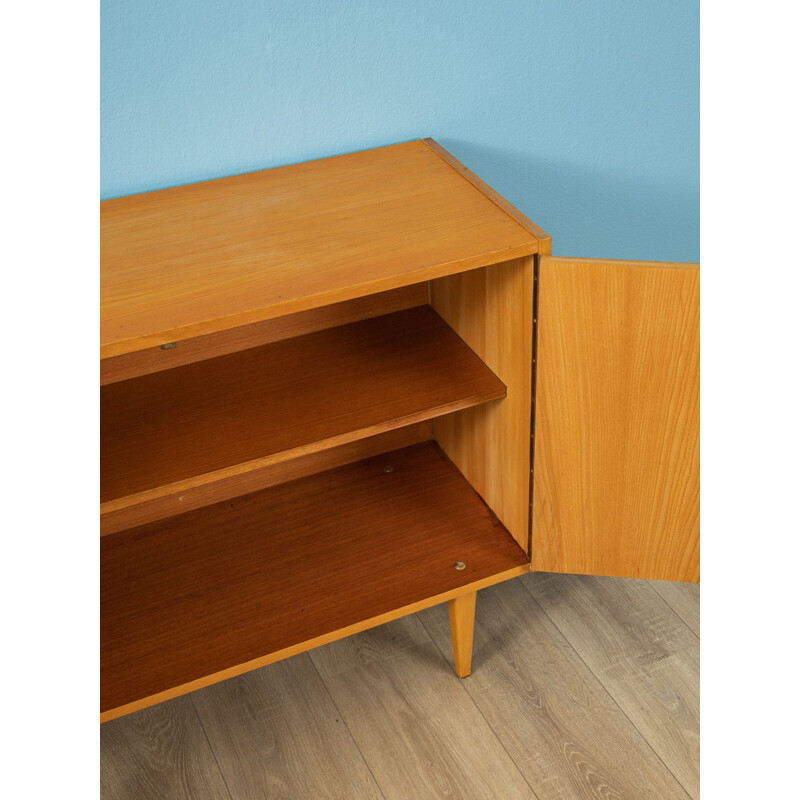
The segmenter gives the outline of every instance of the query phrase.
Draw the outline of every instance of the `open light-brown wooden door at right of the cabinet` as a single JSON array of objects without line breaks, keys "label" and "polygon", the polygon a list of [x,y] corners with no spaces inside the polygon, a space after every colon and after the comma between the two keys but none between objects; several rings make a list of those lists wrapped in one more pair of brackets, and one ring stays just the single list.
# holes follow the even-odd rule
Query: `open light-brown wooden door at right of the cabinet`
[{"label": "open light-brown wooden door at right of the cabinet", "polygon": [[700,579],[697,264],[542,257],[532,568]]}]

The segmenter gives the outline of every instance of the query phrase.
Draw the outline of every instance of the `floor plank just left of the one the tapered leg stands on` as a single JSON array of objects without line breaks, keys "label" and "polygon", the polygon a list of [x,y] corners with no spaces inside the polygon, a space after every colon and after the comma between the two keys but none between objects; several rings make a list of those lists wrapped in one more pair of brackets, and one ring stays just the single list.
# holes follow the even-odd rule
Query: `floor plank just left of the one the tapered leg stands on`
[{"label": "floor plank just left of the one the tapered leg stands on", "polygon": [[349,660],[337,650],[364,648],[372,634],[310,657],[387,800],[535,800],[429,639],[351,669],[329,669]]}]

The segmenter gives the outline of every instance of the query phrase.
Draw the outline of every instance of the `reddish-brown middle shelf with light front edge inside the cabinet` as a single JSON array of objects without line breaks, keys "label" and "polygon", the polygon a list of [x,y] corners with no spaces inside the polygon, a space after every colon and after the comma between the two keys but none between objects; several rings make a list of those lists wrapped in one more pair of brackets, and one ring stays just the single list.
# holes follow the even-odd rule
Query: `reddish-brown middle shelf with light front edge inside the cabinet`
[{"label": "reddish-brown middle shelf with light front edge inside the cabinet", "polygon": [[430,306],[109,384],[101,515],[130,527],[235,497],[254,470],[505,391]]}]

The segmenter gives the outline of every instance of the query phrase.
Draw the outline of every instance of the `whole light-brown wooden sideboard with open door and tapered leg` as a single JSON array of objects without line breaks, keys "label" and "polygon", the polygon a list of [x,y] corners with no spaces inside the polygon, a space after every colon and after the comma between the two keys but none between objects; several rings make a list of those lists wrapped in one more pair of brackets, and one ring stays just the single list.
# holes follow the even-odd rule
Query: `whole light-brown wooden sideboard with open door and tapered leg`
[{"label": "whole light-brown wooden sideboard with open door and tapered leg", "polygon": [[463,677],[531,569],[699,579],[696,265],[553,258],[429,139],[101,223],[101,721],[444,602]]}]

